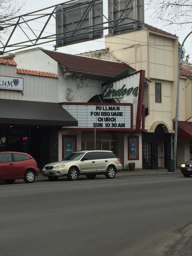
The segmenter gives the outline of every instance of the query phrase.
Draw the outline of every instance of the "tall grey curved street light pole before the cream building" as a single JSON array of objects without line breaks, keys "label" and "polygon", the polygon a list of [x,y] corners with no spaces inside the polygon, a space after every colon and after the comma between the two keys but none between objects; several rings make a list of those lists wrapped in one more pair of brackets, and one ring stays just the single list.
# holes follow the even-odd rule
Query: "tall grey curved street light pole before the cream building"
[{"label": "tall grey curved street light pole before the cream building", "polygon": [[178,63],[178,72],[177,72],[177,98],[176,98],[176,113],[175,113],[175,134],[174,134],[174,147],[173,147],[173,159],[175,160],[175,166],[174,166],[175,170],[176,170],[176,157],[177,157],[177,128],[178,128],[177,126],[178,126],[178,117],[179,117],[179,82],[180,82],[181,52],[186,39],[188,38],[188,36],[190,36],[191,33],[192,31],[185,37],[179,50],[179,63]]}]

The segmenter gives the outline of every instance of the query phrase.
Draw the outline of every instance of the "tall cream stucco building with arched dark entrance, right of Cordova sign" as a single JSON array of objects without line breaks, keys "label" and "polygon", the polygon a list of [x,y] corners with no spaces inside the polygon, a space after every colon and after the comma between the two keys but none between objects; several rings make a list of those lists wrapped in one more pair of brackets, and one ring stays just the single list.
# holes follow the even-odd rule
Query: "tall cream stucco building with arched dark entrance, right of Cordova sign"
[{"label": "tall cream stucco building with arched dark entrance, right of Cordova sign", "polygon": [[151,81],[144,87],[142,168],[166,168],[167,159],[172,156],[178,37],[145,24],[140,31],[106,36],[105,45],[110,58],[113,56],[136,70],[144,69]]}]

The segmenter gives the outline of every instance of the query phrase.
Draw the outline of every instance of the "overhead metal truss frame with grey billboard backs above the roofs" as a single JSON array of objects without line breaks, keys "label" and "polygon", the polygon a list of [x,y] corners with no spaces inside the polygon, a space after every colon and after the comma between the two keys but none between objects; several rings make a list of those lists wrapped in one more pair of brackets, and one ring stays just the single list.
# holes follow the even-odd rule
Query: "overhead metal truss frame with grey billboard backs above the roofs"
[{"label": "overhead metal truss frame with grey billboard backs above the roofs", "polygon": [[56,47],[86,42],[102,38],[105,29],[115,35],[143,28],[143,0],[106,0],[108,15],[103,1],[71,0],[4,20],[0,26],[9,36],[0,37],[0,54],[51,42]]}]

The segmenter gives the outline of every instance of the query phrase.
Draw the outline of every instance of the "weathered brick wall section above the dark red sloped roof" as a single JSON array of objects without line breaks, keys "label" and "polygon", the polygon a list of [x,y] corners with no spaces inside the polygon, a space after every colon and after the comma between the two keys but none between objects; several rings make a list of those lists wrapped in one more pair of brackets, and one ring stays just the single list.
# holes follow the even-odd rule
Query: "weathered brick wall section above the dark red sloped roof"
[{"label": "weathered brick wall section above the dark red sloped roof", "polygon": [[101,49],[101,50],[97,50],[97,51],[91,51],[91,52],[84,52],[84,53],[80,53],[78,55],[101,59],[101,60],[110,60],[110,61],[119,62],[119,60],[117,60],[115,57],[113,57],[109,54],[109,48]]}]

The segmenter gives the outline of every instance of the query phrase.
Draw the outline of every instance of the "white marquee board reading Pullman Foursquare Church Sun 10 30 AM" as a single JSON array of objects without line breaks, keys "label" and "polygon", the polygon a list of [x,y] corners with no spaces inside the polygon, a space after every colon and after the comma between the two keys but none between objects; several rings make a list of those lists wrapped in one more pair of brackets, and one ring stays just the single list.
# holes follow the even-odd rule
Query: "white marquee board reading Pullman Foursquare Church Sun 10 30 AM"
[{"label": "white marquee board reading Pullman Foursquare Church Sun 10 30 AM", "polygon": [[132,104],[64,104],[68,111],[78,121],[78,127],[65,127],[70,129],[89,129],[94,127],[100,130],[132,130],[133,106]]}]

